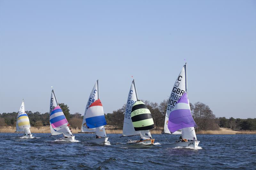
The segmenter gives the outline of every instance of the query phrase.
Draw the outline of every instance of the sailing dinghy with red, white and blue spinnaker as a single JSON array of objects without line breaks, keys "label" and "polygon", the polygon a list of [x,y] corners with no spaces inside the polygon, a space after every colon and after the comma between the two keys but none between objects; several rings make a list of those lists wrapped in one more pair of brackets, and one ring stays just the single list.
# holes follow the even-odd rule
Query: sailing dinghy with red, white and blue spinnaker
[{"label": "sailing dinghy with red, white and blue spinnaker", "polygon": [[99,80],[97,80],[85,106],[83,123],[79,133],[95,133],[96,138],[87,139],[85,142],[104,144],[108,141],[104,128],[106,124],[103,106],[99,98]]}]

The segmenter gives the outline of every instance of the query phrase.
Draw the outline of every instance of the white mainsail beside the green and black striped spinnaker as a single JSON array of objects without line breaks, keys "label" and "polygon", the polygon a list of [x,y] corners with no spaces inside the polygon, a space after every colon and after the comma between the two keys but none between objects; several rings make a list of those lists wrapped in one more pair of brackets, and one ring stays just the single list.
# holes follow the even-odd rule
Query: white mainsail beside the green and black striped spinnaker
[{"label": "white mainsail beside the green and black striped spinnaker", "polygon": [[132,81],[132,85],[128,94],[126,109],[124,114],[123,136],[140,135],[139,131],[135,131],[132,124],[132,106],[137,101],[137,92],[135,90],[135,82]]}]

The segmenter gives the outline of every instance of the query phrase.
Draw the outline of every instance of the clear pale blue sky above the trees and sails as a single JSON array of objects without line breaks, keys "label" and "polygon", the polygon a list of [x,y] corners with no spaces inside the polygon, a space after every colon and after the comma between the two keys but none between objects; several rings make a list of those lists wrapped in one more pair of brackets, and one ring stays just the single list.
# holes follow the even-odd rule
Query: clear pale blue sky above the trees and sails
[{"label": "clear pale blue sky above the trees and sails", "polygon": [[84,113],[97,79],[105,113],[171,93],[216,117],[256,117],[256,1],[0,1],[0,113],[49,111],[51,86]]}]

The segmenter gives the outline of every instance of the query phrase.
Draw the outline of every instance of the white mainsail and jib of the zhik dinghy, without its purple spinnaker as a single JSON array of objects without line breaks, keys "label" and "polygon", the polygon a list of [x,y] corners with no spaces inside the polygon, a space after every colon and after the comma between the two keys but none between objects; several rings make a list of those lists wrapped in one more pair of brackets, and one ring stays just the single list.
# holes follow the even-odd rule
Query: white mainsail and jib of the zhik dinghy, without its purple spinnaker
[{"label": "white mainsail and jib of the zhik dinghy, without its purple spinnaker", "polygon": [[[165,120],[164,120],[164,133],[171,133],[168,129],[168,120],[171,112],[180,97],[187,92],[187,63],[182,67],[181,72],[174,83],[171,95],[169,97]],[[182,134],[182,138],[185,139],[196,139],[196,133],[194,127],[183,128],[180,131],[175,131],[172,134]],[[191,139],[191,140],[192,140]]]}]

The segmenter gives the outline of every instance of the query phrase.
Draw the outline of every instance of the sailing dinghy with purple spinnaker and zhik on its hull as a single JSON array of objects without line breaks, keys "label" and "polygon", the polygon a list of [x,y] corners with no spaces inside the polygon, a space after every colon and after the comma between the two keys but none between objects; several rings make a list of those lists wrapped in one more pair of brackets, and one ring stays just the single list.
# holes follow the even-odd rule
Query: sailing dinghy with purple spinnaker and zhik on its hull
[{"label": "sailing dinghy with purple spinnaker and zhik on its hull", "polygon": [[187,95],[187,63],[174,83],[172,92],[168,101],[164,133],[181,134],[178,141],[169,144],[162,144],[164,148],[190,147],[195,148],[200,141],[196,139],[194,127],[197,127],[194,121]]}]

